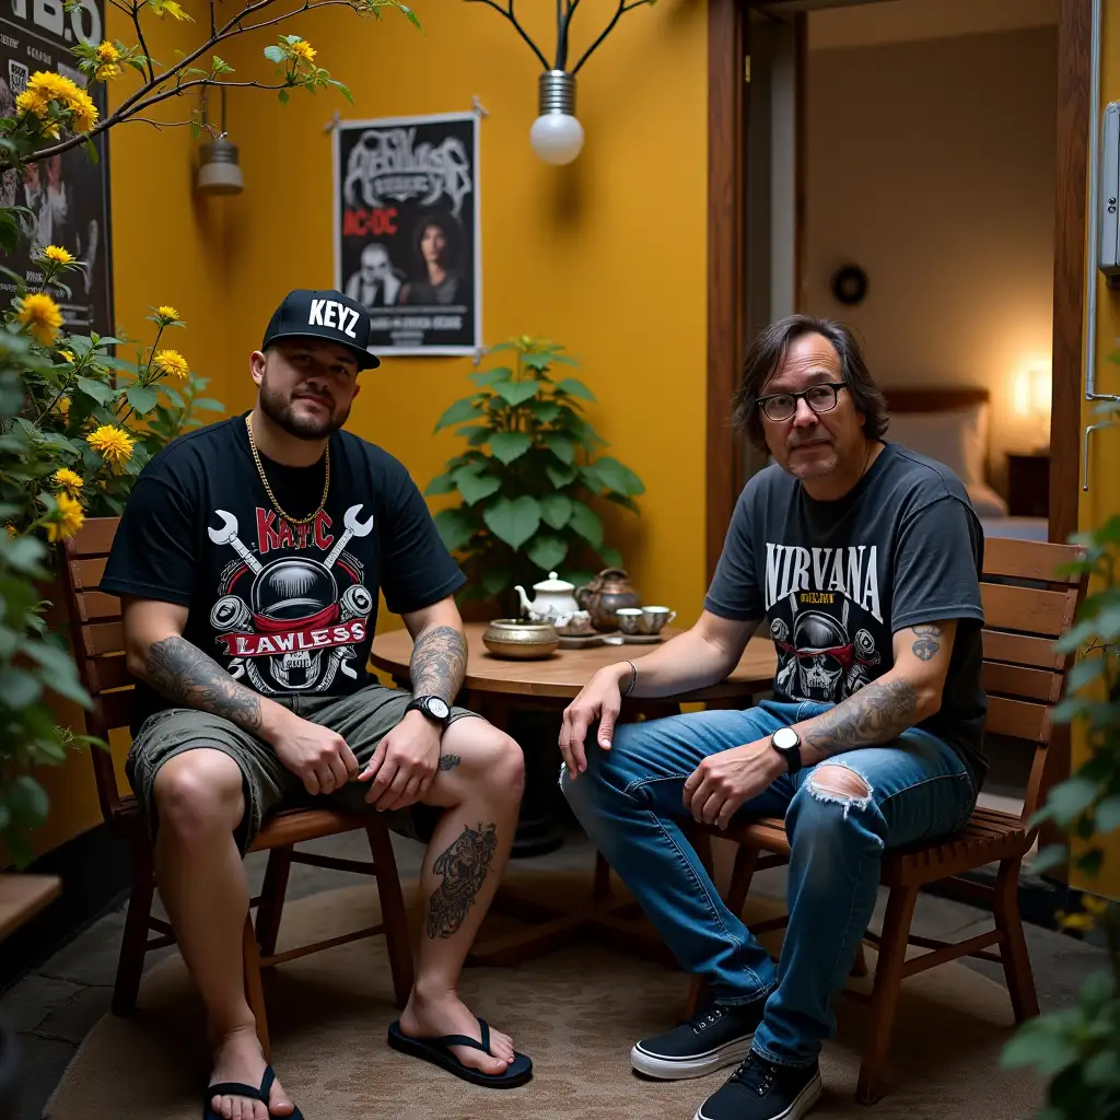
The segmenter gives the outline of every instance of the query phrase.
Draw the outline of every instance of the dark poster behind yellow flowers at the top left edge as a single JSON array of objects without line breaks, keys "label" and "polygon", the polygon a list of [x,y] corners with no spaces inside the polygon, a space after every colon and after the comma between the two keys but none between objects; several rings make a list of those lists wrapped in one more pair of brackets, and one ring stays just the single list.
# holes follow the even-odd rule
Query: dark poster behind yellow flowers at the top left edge
[{"label": "dark poster behind yellow flowers at the top left edge", "polygon": [[[54,71],[84,87],[71,48],[104,38],[103,0],[83,0],[64,7],[45,0],[9,0],[0,4],[0,116],[15,116],[16,99],[38,71]],[[88,91],[100,115],[105,113],[105,84]],[[66,273],[69,297],[55,292],[66,330],[87,335],[113,334],[112,272],[109,254],[109,152],[105,133],[93,140],[96,162],[83,146],[30,164],[22,174],[0,172],[0,206],[25,206],[22,236],[3,264],[29,286],[41,281],[31,263],[47,245],[60,245],[83,262]],[[0,306],[16,291],[0,276]]]}]

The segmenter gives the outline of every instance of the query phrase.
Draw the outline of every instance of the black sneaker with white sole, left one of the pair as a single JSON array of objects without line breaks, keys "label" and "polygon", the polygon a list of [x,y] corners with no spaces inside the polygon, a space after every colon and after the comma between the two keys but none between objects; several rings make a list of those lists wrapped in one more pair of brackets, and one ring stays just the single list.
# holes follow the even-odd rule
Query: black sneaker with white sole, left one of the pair
[{"label": "black sneaker with white sole, left one of the pair", "polygon": [[741,1007],[712,1005],[674,1030],[643,1038],[631,1051],[631,1065],[647,1077],[665,1081],[702,1077],[735,1065],[750,1053],[765,1008],[765,999]]}]

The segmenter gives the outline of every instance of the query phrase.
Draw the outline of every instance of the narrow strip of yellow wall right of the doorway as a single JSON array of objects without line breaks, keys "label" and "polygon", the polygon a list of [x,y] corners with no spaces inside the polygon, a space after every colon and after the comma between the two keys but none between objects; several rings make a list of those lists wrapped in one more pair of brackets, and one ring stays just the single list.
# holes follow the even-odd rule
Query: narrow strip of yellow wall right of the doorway
[{"label": "narrow strip of yellow wall right of the doorway", "polygon": [[[1101,109],[1120,100],[1120,3],[1104,2],[1104,29],[1101,50]],[[1092,128],[1099,127],[1095,116]],[[1120,393],[1120,370],[1108,356],[1120,349],[1120,293],[1111,291],[1098,274],[1096,279],[1096,391]],[[1082,404],[1082,423],[1095,423],[1102,417],[1093,412],[1094,404]],[[1079,524],[1083,530],[1100,525],[1112,514],[1120,513],[1120,427],[1094,432],[1090,450],[1089,493],[1081,492]],[[1079,747],[1081,750],[1079,750]],[[1084,740],[1074,743],[1075,760],[1083,756]],[[1076,880],[1079,886],[1120,898],[1120,832],[1114,832],[1108,846],[1109,859],[1096,883]]]}]

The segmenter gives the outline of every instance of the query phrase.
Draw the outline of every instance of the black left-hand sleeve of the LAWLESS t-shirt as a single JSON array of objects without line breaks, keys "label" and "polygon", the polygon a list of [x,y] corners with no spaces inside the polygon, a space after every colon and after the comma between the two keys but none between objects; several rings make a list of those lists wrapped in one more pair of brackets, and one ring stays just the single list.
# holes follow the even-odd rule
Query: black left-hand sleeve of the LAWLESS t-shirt
[{"label": "black left-hand sleeve of the LAWLESS t-shirt", "polygon": [[188,489],[158,476],[137,479],[121,515],[101,589],[190,606],[198,524]]}]

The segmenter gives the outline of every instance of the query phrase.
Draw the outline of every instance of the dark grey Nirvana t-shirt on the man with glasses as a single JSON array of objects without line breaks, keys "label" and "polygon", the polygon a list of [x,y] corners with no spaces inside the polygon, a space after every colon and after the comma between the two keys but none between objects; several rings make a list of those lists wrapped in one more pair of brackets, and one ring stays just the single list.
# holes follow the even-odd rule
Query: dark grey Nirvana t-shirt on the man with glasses
[{"label": "dark grey Nirvana t-shirt on the man with glasses", "polygon": [[844,497],[818,502],[778,466],[739,495],[704,606],[765,618],[774,691],[839,703],[894,664],[896,631],[956,619],[940,711],[920,726],[987,771],[981,685],[983,532],[960,479],[887,444]]}]

